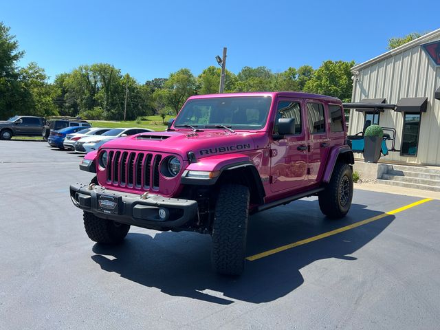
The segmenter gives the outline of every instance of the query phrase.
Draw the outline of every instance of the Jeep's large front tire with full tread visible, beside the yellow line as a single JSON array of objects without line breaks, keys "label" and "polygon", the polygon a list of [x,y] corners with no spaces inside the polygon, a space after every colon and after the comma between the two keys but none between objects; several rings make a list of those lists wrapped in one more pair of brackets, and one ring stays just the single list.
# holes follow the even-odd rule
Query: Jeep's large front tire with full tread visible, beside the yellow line
[{"label": "Jeep's large front tire with full tread visible, beside the yellow line", "polygon": [[244,270],[249,217],[249,188],[224,184],[219,190],[212,223],[212,269],[238,276]]}]

